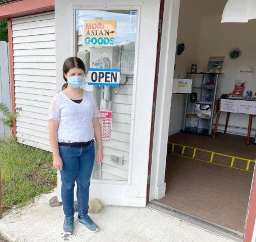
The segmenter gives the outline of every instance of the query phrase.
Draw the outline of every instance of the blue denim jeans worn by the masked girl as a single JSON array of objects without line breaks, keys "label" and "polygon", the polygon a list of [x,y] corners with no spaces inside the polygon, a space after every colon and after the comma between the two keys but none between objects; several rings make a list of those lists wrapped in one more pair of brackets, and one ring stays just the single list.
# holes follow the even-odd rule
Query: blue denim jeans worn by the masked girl
[{"label": "blue denim jeans worn by the masked girl", "polygon": [[80,217],[88,213],[90,178],[92,175],[95,149],[94,142],[86,146],[59,145],[63,161],[61,173],[61,198],[65,216],[74,216],[74,187],[77,185],[77,210]]}]

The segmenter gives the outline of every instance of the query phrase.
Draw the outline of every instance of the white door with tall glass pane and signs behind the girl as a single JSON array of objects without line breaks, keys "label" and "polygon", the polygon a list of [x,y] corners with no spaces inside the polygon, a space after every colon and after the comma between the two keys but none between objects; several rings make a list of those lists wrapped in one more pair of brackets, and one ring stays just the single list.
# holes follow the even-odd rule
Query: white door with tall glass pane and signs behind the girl
[{"label": "white door with tall glass pane and signs behind the girl", "polygon": [[[93,92],[100,110],[112,111],[111,140],[103,143],[103,162],[94,165],[90,185],[90,198],[104,204],[146,204],[159,2],[55,2],[57,91],[64,83],[63,62],[71,56],[84,60],[88,81],[95,69],[103,73],[99,79],[98,72],[97,81],[104,85],[116,81],[115,73],[107,72],[120,75],[119,86],[84,87]],[[60,189],[58,176],[59,199]]]}]

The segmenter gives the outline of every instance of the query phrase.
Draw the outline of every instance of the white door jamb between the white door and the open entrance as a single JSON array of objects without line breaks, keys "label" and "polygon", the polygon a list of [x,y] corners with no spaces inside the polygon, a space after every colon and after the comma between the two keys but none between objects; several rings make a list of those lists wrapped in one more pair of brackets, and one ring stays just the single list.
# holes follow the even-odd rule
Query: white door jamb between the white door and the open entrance
[{"label": "white door jamb between the white door and the open entrance", "polygon": [[150,134],[150,147],[152,147],[152,151],[150,150],[149,155],[150,182],[147,188],[147,202],[164,197],[166,192],[164,174],[166,168],[180,0],[164,1],[163,8],[162,32],[164,32],[164,35],[161,38],[160,54],[158,57],[158,81],[154,87],[156,108],[152,112],[153,125]]}]

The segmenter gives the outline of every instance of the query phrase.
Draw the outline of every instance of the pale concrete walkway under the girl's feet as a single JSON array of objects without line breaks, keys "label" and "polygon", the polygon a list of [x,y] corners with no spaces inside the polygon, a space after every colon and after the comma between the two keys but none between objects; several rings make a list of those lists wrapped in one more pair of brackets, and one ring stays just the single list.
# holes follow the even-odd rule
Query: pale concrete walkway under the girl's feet
[{"label": "pale concrete walkway under the girl's feet", "polygon": [[9,212],[0,220],[0,234],[11,242],[232,241],[149,208],[118,206],[104,207],[100,213],[90,215],[100,227],[95,234],[76,222],[76,213],[74,235],[65,237],[62,232],[62,206],[48,206],[49,198],[53,196],[56,196],[56,190],[43,194],[35,203],[19,211]]}]

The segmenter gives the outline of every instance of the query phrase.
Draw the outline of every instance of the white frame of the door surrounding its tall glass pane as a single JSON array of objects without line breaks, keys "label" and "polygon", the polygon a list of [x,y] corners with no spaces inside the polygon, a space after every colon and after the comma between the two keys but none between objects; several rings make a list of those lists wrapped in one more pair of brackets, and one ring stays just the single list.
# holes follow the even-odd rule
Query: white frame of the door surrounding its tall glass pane
[{"label": "white frame of the door surrounding its tall glass pane", "polygon": [[[74,55],[74,8],[127,10],[141,9],[138,58],[135,62],[138,71],[135,73],[138,82],[134,83],[136,96],[134,97],[134,133],[132,139],[131,178],[129,182],[117,182],[113,180],[91,180],[90,198],[97,197],[103,204],[121,206],[145,207],[147,200],[147,171],[150,143],[150,127],[152,115],[152,100],[154,90],[154,73],[156,67],[158,16],[160,0],[56,0],[56,78],[57,91],[63,84],[63,61]],[[144,71],[147,70],[147,71]],[[143,142],[141,142],[143,141]],[[58,174],[58,199],[60,195],[61,179]]]}]

